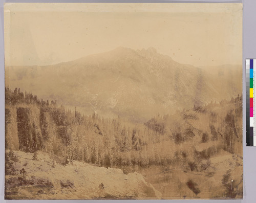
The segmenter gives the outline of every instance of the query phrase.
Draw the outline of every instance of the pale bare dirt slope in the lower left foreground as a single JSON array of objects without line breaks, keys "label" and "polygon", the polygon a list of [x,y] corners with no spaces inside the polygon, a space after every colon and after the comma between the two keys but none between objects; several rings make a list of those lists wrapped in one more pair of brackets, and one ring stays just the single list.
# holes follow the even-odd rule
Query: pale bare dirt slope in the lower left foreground
[{"label": "pale bare dirt slope in the lower left foreground", "polygon": [[136,172],[126,175],[121,169],[76,161],[63,164],[65,160],[42,152],[37,160],[32,153],[14,151],[14,156],[9,161],[13,167],[7,167],[14,173],[6,175],[6,199],[161,198]]}]

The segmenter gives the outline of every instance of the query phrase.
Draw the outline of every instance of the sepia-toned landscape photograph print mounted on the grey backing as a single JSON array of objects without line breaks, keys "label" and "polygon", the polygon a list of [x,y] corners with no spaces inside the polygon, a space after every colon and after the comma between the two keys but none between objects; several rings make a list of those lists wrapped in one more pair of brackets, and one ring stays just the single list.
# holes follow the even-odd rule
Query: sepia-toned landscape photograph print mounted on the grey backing
[{"label": "sepia-toned landscape photograph print mounted on the grey backing", "polygon": [[242,199],[242,4],[7,3],[5,199]]}]

